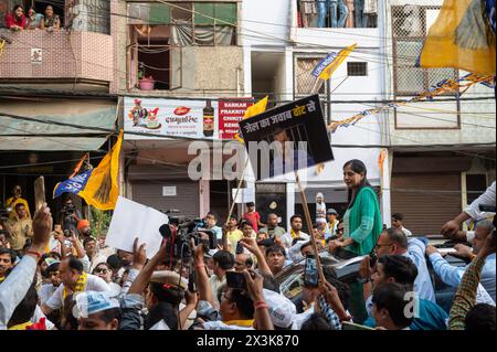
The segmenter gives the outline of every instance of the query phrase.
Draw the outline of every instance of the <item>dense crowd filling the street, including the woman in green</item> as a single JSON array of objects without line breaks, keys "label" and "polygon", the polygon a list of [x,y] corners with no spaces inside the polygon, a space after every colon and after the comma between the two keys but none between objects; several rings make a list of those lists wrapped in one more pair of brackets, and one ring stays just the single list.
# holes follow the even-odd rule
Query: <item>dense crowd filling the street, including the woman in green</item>
[{"label": "dense crowd filling the street, including the woman in green", "polygon": [[[402,214],[383,226],[360,160],[343,166],[343,181],[345,214],[326,209],[318,194],[308,233],[302,215],[285,228],[275,213],[263,222],[254,203],[221,225],[209,212],[195,228],[199,241],[190,238],[189,258],[176,257],[167,237],[152,256],[138,237],[133,252],[107,247],[71,199],[55,222],[46,204],[31,217],[15,186],[11,213],[0,222],[0,329],[495,330],[496,230],[475,210],[491,198],[495,204],[495,183],[442,227],[447,238],[472,244],[455,247],[468,263],[458,267],[406,230]],[[461,231],[469,218],[475,231]],[[360,256],[358,278],[346,282],[326,264],[317,285],[299,274],[297,305],[283,295],[278,276],[315,248]],[[456,290],[448,307],[437,302],[430,267]]]}]

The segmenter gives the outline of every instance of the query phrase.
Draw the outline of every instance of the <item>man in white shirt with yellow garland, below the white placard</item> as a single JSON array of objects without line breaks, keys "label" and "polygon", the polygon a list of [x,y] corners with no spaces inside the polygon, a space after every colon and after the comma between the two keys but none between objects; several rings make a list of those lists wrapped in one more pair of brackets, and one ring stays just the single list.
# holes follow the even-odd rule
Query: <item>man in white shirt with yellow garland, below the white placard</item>
[{"label": "man in white shirt with yellow garland, below the white placard", "polygon": [[81,260],[68,257],[59,266],[62,285],[57,287],[52,297],[42,306],[45,316],[60,309],[68,295],[83,291],[110,291],[110,287],[98,276],[85,274]]}]

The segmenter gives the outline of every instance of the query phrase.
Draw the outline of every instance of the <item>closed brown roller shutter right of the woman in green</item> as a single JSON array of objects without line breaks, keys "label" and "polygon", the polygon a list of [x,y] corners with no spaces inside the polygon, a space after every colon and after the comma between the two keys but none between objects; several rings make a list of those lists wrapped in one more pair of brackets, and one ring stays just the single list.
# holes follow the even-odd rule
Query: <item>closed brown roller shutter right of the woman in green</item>
[{"label": "closed brown roller shutter right of the woman in green", "polygon": [[392,177],[391,211],[404,215],[404,227],[415,235],[438,235],[443,224],[461,213],[461,174]]}]

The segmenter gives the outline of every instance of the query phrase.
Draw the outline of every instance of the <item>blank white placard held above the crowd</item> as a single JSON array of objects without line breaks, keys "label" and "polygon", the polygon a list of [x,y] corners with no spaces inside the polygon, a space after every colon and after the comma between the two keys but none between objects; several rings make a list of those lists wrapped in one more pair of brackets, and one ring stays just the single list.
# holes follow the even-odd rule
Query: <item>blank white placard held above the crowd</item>
[{"label": "blank white placard held above the crowd", "polygon": [[105,244],[133,253],[133,243],[146,243],[147,258],[151,258],[160,248],[162,236],[159,227],[169,223],[168,215],[124,196],[117,199]]}]

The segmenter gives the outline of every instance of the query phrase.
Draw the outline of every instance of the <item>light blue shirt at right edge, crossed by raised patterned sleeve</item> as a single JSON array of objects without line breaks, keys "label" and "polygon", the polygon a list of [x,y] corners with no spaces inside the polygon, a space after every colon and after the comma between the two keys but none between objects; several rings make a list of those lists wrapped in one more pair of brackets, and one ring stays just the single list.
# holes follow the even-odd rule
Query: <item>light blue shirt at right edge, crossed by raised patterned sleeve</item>
[{"label": "light blue shirt at right edge, crossed by raised patterned sleeve", "polygon": [[[478,296],[477,296],[477,302],[489,302],[485,296],[488,292],[491,300],[495,303],[495,253],[489,255],[486,260],[485,265],[482,269],[482,276],[480,276],[480,285],[478,288]],[[436,273],[436,275],[440,277],[440,279],[452,287],[458,287],[459,282],[463,278],[464,273],[466,271],[467,266],[465,267],[456,267],[452,266],[447,260],[445,260],[440,253],[434,253],[430,256],[430,260],[433,265],[433,270]],[[488,297],[488,296],[487,296]]]}]

